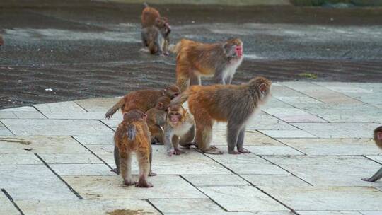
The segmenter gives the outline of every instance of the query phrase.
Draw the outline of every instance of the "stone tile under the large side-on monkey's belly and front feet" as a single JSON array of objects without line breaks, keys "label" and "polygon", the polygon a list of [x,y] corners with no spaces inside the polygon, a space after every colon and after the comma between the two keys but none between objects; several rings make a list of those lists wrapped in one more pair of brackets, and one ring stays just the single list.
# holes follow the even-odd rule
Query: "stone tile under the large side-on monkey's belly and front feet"
[{"label": "stone tile under the large side-on monkey's belly and front feet", "polygon": [[[212,135],[212,145],[226,146],[226,136],[227,134],[225,130],[214,129]],[[283,146],[283,144],[260,132],[248,131],[245,132],[244,146]]]}]

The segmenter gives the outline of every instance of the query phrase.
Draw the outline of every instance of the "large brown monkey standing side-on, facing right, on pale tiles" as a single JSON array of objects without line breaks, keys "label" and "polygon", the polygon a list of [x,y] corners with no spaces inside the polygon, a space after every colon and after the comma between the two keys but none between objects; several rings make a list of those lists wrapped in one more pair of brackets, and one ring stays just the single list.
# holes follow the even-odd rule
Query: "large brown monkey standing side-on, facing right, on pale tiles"
[{"label": "large brown monkey standing side-on, facing right, on pale tiles", "polygon": [[[210,147],[212,126],[215,121],[228,122],[228,153],[249,153],[243,148],[245,125],[255,110],[267,101],[272,82],[263,77],[251,79],[241,85],[191,86],[171,100],[181,104],[188,100],[190,112],[195,117],[197,147],[204,153],[221,154]],[[235,146],[238,151],[235,151]]]}]

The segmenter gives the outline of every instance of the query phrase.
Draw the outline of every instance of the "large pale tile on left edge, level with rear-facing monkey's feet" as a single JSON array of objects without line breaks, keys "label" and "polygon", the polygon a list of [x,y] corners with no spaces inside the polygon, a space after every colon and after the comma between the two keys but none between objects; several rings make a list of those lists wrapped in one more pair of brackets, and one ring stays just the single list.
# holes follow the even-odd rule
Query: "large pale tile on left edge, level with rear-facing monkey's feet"
[{"label": "large pale tile on left edge, level with rear-facing monkey's feet", "polygon": [[62,187],[64,183],[45,165],[0,165],[0,187]]}]

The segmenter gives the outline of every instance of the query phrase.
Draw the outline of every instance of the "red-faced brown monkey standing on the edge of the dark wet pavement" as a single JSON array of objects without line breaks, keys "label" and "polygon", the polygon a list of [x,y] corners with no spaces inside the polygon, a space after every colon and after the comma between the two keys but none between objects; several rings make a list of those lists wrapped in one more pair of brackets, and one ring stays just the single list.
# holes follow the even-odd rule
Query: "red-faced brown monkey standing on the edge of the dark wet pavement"
[{"label": "red-faced brown monkey standing on the edge of the dark wet pavement", "polygon": [[176,84],[180,91],[200,85],[201,76],[214,76],[216,83],[231,84],[243,60],[243,42],[231,39],[213,44],[180,40],[172,47],[176,58]]}]

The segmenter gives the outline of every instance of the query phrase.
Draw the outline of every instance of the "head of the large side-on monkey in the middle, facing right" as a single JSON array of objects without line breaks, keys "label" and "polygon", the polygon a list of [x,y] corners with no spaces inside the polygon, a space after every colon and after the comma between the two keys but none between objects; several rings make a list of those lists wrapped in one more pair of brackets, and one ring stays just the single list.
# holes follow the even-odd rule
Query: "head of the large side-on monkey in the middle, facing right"
[{"label": "head of the large side-on monkey in the middle, facing right", "polygon": [[250,88],[250,93],[253,95],[258,95],[258,98],[260,98],[262,103],[265,103],[271,95],[272,81],[265,79],[262,76],[251,79],[248,85]]}]

